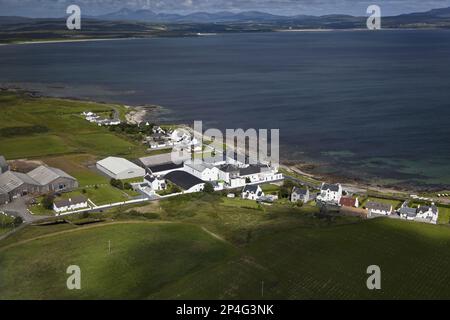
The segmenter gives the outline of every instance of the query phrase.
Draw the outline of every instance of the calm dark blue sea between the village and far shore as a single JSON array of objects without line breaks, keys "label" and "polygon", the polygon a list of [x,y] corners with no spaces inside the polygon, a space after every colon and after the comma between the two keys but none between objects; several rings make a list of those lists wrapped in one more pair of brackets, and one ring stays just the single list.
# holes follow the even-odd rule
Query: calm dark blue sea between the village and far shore
[{"label": "calm dark blue sea between the village and far shore", "polygon": [[279,128],[319,172],[450,185],[450,31],[231,34],[0,47],[0,82]]}]

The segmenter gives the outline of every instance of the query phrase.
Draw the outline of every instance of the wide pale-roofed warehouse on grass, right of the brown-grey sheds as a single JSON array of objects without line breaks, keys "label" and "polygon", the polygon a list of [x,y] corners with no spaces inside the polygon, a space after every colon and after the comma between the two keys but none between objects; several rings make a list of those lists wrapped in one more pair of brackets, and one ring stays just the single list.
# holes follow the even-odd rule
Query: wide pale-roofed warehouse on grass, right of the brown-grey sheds
[{"label": "wide pale-roofed warehouse on grass, right of the brown-grey sheds", "polygon": [[97,162],[97,169],[113,179],[133,179],[145,176],[145,169],[124,158],[108,157]]}]

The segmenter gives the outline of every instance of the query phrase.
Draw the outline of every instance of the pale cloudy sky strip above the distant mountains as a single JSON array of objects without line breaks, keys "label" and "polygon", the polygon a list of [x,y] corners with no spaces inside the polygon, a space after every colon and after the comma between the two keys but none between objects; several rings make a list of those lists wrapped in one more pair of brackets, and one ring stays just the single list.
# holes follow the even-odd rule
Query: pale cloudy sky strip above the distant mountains
[{"label": "pale cloudy sky strip above the distant mountains", "polygon": [[0,0],[0,16],[62,17],[70,4],[79,5],[86,15],[129,8],[170,13],[258,10],[282,15],[358,16],[366,16],[367,7],[376,4],[386,16],[450,7],[450,0]]}]

